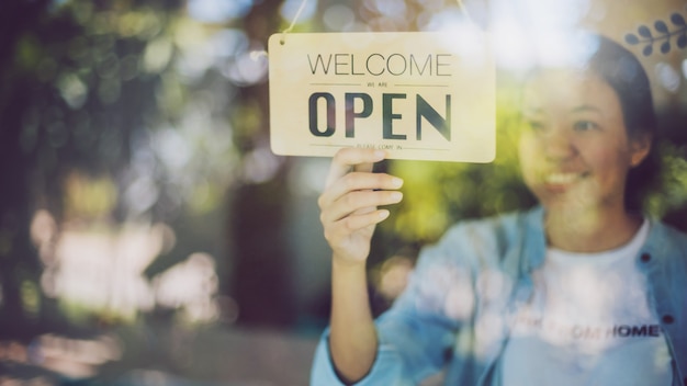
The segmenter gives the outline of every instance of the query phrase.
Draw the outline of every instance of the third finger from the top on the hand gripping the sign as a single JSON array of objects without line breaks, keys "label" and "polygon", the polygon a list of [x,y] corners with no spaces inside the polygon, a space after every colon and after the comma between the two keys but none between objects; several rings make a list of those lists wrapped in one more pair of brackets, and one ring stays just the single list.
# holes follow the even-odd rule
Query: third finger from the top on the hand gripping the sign
[{"label": "third finger from the top on the hand gripping the sign", "polygon": [[375,211],[378,206],[397,204],[403,193],[396,191],[357,191],[334,202],[327,211],[323,211],[323,224],[338,222],[348,216]]}]

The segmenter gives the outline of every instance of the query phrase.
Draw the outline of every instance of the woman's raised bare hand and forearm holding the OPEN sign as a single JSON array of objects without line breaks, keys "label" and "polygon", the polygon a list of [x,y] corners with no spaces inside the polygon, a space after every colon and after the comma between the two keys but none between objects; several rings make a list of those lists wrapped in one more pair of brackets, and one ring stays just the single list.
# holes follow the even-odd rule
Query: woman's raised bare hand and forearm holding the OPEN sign
[{"label": "woman's raised bare hand and forearm holding the OPEN sign", "polygon": [[372,172],[374,162],[384,157],[384,151],[371,149],[338,151],[318,200],[333,250],[329,347],[337,373],[349,384],[370,371],[378,348],[365,273],[374,227],[388,217],[388,211],[378,206],[403,198],[397,191],[401,179]]}]

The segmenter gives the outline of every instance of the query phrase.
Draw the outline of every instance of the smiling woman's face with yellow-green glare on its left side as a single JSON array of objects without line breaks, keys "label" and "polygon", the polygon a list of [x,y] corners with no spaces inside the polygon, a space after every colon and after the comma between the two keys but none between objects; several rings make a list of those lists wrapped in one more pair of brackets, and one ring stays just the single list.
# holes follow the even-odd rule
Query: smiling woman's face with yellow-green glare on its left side
[{"label": "smiling woman's face with yellow-green glare on its left side", "polygon": [[623,208],[626,177],[649,140],[630,140],[608,83],[579,71],[541,72],[525,88],[522,115],[522,174],[544,207]]}]

